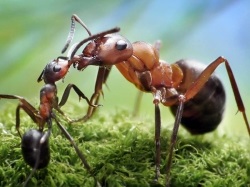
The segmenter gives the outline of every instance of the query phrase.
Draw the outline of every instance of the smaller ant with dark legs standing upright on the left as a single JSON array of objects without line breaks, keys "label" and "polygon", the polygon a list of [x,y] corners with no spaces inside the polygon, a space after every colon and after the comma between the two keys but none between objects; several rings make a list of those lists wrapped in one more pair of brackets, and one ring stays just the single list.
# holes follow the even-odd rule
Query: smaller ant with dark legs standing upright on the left
[{"label": "smaller ant with dark legs standing upright on the left", "polygon": [[[62,114],[62,116],[64,116],[66,120],[71,121],[71,119],[68,118],[63,113],[60,107],[62,107],[66,103],[70,90],[72,88],[77,93],[79,98],[85,99],[87,103],[91,105],[89,99],[74,84],[69,84],[66,87],[62,99],[60,103],[58,103],[57,87],[55,82],[61,80],[67,74],[68,69],[71,66],[71,64],[67,59],[68,58],[66,57],[58,57],[57,59],[49,62],[42,71],[41,75],[39,76],[38,81],[44,80],[45,85],[40,90],[40,105],[38,110],[21,96],[0,94],[0,99],[1,98],[18,99],[20,101],[16,109],[16,130],[22,139],[21,148],[22,148],[23,158],[25,162],[33,168],[32,172],[24,182],[24,186],[27,185],[28,181],[30,180],[30,178],[37,169],[44,168],[49,164],[50,160],[49,137],[52,131],[52,120],[56,122],[57,126],[61,129],[62,133],[70,141],[78,157],[81,159],[84,167],[87,169],[89,173],[91,173],[90,165],[85,159],[85,156],[80,151],[80,149],[78,148],[78,146],[76,145],[70,134],[67,132],[67,130],[61,125],[58,118],[56,117],[56,114],[53,112],[53,109],[55,109],[60,114]],[[97,105],[91,105],[91,106],[96,107]],[[38,130],[31,129],[26,133],[24,133],[23,136],[21,135],[21,132],[19,130],[20,109],[24,110],[30,116],[30,118],[38,125]],[[48,130],[46,132],[44,131],[45,124],[48,125],[47,126]],[[99,186],[97,180],[95,181],[97,186]]]}]

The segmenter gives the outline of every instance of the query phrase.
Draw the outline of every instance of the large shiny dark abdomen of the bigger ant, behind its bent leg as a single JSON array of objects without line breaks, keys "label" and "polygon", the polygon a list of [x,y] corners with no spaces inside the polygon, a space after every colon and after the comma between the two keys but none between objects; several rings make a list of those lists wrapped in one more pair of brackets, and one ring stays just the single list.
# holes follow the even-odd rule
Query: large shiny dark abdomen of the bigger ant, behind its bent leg
[{"label": "large shiny dark abdomen of the bigger ant, behind its bent leg", "polygon": [[[190,60],[180,60],[176,64],[184,73],[183,82],[177,91],[184,94],[206,66]],[[225,100],[226,94],[223,85],[213,74],[200,92],[184,104],[181,124],[192,134],[213,131],[222,120]],[[175,115],[177,105],[171,106],[170,109]]]}]

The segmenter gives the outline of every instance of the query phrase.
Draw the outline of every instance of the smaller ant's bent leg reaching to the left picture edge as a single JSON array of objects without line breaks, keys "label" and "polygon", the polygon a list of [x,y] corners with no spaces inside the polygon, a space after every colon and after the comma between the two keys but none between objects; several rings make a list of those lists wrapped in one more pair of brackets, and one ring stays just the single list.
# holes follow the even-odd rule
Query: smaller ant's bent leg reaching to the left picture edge
[{"label": "smaller ant's bent leg reaching to the left picture edge", "polygon": [[17,96],[17,95],[8,95],[8,94],[0,94],[0,99],[18,99],[20,103],[18,104],[16,108],[16,130],[19,134],[19,136],[22,138],[21,132],[19,130],[20,128],[20,109],[23,109],[29,116],[30,118],[39,125],[39,128],[43,128],[42,124],[42,118],[39,115],[39,112],[36,108],[34,108],[26,99],[23,97]]}]

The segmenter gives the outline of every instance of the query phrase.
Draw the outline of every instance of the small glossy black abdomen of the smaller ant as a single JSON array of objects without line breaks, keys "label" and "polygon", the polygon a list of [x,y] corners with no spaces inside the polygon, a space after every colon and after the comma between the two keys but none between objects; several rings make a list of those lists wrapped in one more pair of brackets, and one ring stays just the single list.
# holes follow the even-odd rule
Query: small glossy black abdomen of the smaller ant
[{"label": "small glossy black abdomen of the smaller ant", "polygon": [[46,167],[50,161],[49,138],[41,142],[44,132],[36,129],[27,131],[22,137],[24,161],[35,169]]}]

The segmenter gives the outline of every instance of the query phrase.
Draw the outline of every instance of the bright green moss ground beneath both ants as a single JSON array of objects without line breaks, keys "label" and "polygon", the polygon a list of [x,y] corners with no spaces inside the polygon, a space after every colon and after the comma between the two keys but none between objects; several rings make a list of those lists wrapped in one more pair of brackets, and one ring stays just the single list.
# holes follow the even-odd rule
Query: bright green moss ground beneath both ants
[{"label": "bright green moss ground beneath both ants", "polygon": [[[31,169],[24,163],[15,131],[15,106],[0,114],[0,186],[21,186]],[[22,131],[36,128],[22,114]],[[162,129],[161,177],[154,178],[154,125],[151,118],[134,119],[126,110],[99,110],[86,123],[62,121],[104,186],[163,186],[170,131]],[[250,186],[249,141],[216,133],[191,136],[181,129],[172,165],[172,186]],[[74,149],[54,125],[51,161],[37,171],[28,186],[94,186]]]}]

